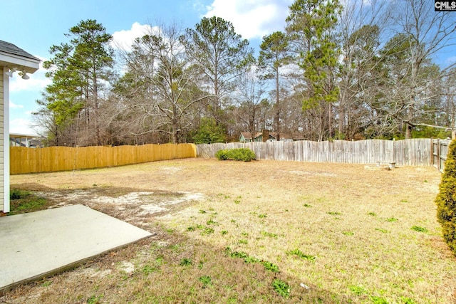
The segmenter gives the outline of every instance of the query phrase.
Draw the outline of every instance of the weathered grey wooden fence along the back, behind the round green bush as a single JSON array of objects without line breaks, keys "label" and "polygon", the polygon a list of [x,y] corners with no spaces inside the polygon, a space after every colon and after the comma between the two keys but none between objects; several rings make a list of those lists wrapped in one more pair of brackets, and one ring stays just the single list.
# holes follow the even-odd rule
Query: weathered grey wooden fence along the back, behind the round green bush
[{"label": "weathered grey wooden fence along the back, behind the round green bush", "polygon": [[343,162],[376,164],[395,162],[397,165],[430,166],[430,139],[360,140],[349,142],[232,142],[228,144],[197,145],[197,157],[215,157],[223,149],[249,148],[257,159],[291,160],[296,162]]}]

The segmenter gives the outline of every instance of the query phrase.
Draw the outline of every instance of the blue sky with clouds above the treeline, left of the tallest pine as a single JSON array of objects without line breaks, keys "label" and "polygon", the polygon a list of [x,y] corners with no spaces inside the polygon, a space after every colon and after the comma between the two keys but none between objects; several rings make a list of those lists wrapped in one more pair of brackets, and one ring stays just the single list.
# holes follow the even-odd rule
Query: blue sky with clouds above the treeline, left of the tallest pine
[{"label": "blue sky with clouds above the treeline, left of the tallest pine", "polygon": [[[14,43],[42,61],[49,48],[81,20],[95,19],[115,41],[131,41],[145,25],[182,22],[193,27],[203,16],[231,21],[237,33],[257,46],[261,37],[283,30],[292,0],[1,0],[0,40]],[[124,42],[125,43],[125,42]],[[41,67],[29,80],[10,78],[10,132],[36,134],[31,125],[36,100],[49,80]]]}]

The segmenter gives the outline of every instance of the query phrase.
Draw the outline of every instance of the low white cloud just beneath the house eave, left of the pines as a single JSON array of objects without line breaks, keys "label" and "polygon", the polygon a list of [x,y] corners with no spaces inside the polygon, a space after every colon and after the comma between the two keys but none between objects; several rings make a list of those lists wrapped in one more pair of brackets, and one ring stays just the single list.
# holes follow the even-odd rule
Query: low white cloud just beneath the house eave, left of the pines
[{"label": "low white cloud just beneath the house eave, left of the pines", "polygon": [[39,70],[33,74],[27,74],[30,79],[24,80],[19,76],[19,73],[16,72],[13,74],[13,77],[10,78],[9,82],[9,91],[10,92],[19,92],[19,91],[41,91],[46,88],[46,85],[51,84],[51,80],[46,78],[46,69],[43,68],[43,61],[46,61],[47,58],[36,56],[41,60]]}]

